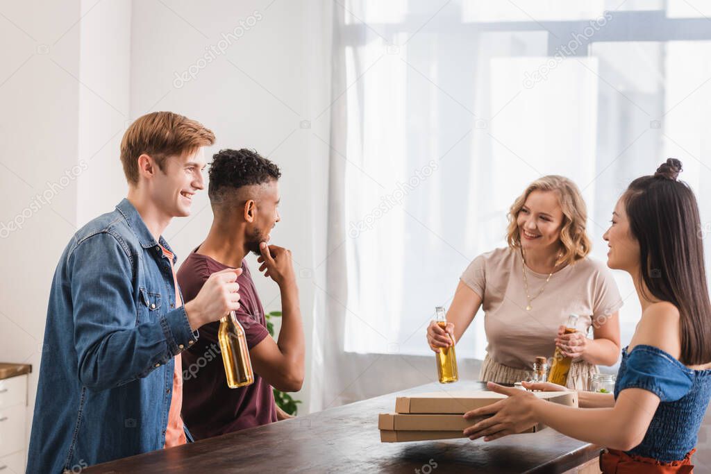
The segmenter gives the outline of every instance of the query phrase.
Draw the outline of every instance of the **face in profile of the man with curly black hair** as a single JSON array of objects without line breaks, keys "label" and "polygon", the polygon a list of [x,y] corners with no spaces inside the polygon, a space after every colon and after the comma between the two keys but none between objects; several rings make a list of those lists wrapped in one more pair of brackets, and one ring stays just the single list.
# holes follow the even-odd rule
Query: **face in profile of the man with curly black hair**
[{"label": "face in profile of the man with curly black hair", "polygon": [[[269,242],[272,229],[281,220],[279,216],[279,183],[276,180],[254,185],[254,200],[245,204],[247,220],[246,246],[250,252],[260,255],[260,243]],[[250,204],[251,203],[251,204]]]}]

